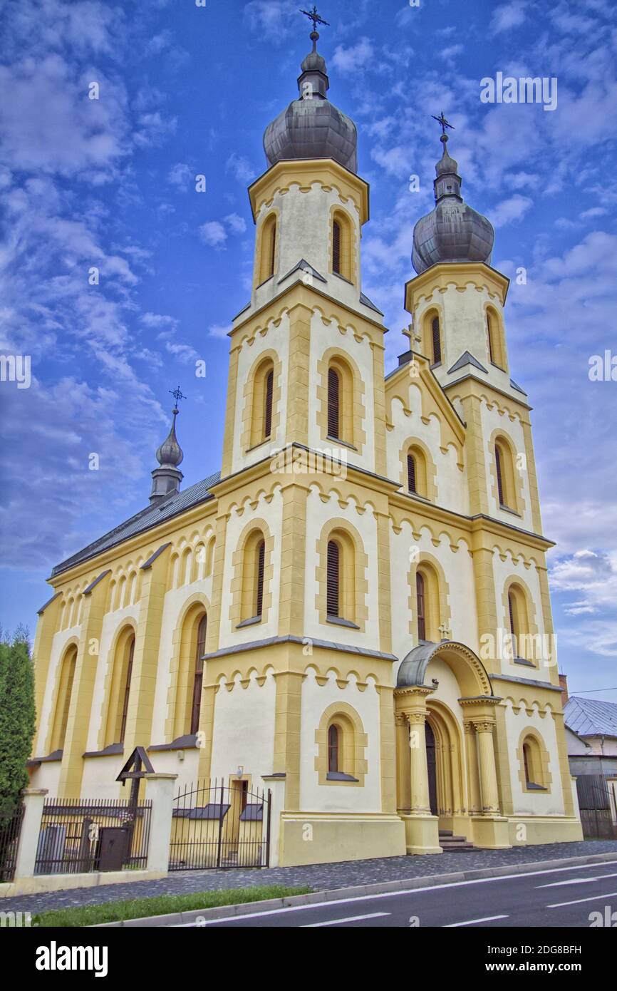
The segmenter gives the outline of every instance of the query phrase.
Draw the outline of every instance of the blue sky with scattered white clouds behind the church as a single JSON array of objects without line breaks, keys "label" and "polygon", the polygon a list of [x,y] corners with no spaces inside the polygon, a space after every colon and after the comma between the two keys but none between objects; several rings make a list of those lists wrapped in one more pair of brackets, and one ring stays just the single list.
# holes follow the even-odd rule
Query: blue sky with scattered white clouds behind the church
[{"label": "blue sky with scattered white clouds behind the church", "polygon": [[[168,389],[187,395],[184,486],[220,467],[226,332],[253,261],[247,185],[310,48],[299,6],[0,2],[0,351],[31,355],[33,376],[0,383],[5,626],[34,630],[51,566],[147,503]],[[507,332],[558,542],[561,667],[570,689],[613,688],[617,382],[590,382],[588,361],[617,355],[617,9],[324,0],[322,14],[329,96],[358,124],[371,187],[363,289],[390,327],[388,366],[406,347],[413,225],[432,206],[431,114],[455,124],[463,194],[496,229],[493,265],[527,270]],[[557,76],[557,109],[481,103],[480,79],[497,71]]]}]

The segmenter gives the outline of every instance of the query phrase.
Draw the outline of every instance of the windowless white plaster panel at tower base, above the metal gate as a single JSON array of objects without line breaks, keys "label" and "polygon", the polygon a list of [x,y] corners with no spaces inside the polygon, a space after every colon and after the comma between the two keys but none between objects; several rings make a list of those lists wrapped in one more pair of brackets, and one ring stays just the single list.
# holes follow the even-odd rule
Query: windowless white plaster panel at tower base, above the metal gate
[{"label": "windowless white plaster panel at tower base, above the metal gate", "polygon": [[221,684],[214,704],[213,778],[227,781],[242,766],[245,774],[252,775],[253,785],[260,787],[257,779],[272,773],[275,702],[271,669],[261,688],[255,671],[247,688],[243,688],[240,675],[231,692]]}]

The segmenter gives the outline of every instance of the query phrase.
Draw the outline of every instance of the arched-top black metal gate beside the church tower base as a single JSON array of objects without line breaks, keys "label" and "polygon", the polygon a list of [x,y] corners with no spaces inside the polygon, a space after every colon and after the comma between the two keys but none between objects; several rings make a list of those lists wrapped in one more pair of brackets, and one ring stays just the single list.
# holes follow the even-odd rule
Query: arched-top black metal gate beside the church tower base
[{"label": "arched-top black metal gate beside the church tower base", "polygon": [[173,800],[169,870],[267,867],[269,790],[242,779],[198,781]]}]

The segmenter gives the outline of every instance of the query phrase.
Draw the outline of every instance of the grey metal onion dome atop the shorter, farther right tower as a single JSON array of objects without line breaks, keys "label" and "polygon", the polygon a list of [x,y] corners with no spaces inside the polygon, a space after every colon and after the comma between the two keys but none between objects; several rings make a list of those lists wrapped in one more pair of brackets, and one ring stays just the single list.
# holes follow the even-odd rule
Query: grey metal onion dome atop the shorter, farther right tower
[{"label": "grey metal onion dome atop the shorter, farther right tower", "polygon": [[461,195],[459,165],[448,154],[448,135],[441,160],[435,166],[435,209],[414,227],[411,262],[418,273],[439,262],[485,262],[495,240],[492,224],[468,206]]}]

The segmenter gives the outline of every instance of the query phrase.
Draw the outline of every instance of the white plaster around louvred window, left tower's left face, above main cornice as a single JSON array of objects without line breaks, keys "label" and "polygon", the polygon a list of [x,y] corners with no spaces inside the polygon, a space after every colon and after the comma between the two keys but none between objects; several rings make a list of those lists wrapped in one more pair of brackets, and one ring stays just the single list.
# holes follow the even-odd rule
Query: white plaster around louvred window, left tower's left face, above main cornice
[{"label": "white plaster around louvred window, left tower's left face, above main cornice", "polygon": [[[247,397],[245,385],[251,370],[255,368],[259,356],[265,351],[275,351],[281,363],[275,387],[280,389],[280,397],[272,409],[272,417],[278,414],[278,426],[271,439],[259,444],[247,452],[242,446],[242,435],[245,430],[244,413]],[[277,447],[284,447],[285,428],[287,423],[287,379],[289,375],[289,314],[284,312],[278,326],[273,321],[268,323],[266,334],[257,334],[251,345],[243,344],[238,358],[238,381],[236,385],[236,404],[234,420],[234,453],[232,458],[232,473],[239,472],[249,465],[255,465],[269,455]]]}]

